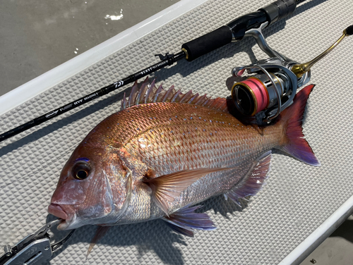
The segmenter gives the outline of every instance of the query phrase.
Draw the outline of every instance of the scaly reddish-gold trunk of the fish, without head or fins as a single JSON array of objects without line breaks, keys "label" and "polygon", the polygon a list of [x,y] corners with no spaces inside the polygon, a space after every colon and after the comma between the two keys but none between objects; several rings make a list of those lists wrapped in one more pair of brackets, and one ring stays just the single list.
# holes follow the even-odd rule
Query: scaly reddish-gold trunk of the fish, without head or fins
[{"label": "scaly reddish-gold trunk of the fish, without head or fins", "polygon": [[[150,207],[150,188],[143,183],[148,171],[158,177],[197,168],[229,168],[205,175],[187,187],[169,203],[168,209],[173,212],[234,187],[258,156],[280,144],[281,132],[279,128],[244,125],[229,113],[205,106],[170,102],[132,106],[101,125],[93,133],[104,134],[106,142],[101,144],[114,146],[120,159],[133,170],[136,190],[131,205],[136,204],[121,218],[125,222],[164,216],[159,207]],[[107,134],[103,128],[112,131]],[[119,137],[121,142],[112,144],[116,135],[124,136]]]}]

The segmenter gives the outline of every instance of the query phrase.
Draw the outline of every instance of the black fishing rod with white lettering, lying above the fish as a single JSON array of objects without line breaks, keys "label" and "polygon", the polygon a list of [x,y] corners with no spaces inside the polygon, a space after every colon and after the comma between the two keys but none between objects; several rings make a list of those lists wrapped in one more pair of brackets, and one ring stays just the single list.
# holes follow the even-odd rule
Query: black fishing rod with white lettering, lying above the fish
[{"label": "black fishing rod with white lettering, lying above the fish", "polygon": [[75,109],[78,106],[92,101],[93,99],[102,97],[105,94],[123,87],[124,85],[135,82],[136,80],[143,78],[150,73],[160,70],[166,66],[172,66],[175,62],[181,59],[186,59],[186,61],[193,61],[200,56],[208,54],[210,51],[225,46],[226,44],[231,42],[239,42],[241,39],[246,37],[246,32],[249,30],[258,28],[263,25],[263,23],[267,23],[266,26],[271,25],[277,20],[289,16],[295,11],[297,5],[304,1],[306,0],[277,0],[272,4],[265,6],[264,8],[260,8],[256,12],[249,13],[235,20],[232,20],[232,22],[218,28],[217,30],[214,30],[213,32],[209,32],[206,35],[182,44],[181,51],[179,51],[177,54],[157,54],[156,56],[160,58],[160,62],[155,63],[143,70],[139,70],[138,72],[118,80],[111,85],[102,87],[100,90],[96,90],[95,92],[92,92],[85,97],[71,101],[70,103],[64,106],[60,106],[53,111],[49,111],[48,113],[45,113],[42,116],[33,119],[32,121],[28,121],[23,125],[19,125],[12,130],[8,130],[7,132],[4,132],[0,135],[0,142],[14,135],[18,135],[20,132],[24,132],[25,130],[40,125],[41,123],[49,121],[50,119],[66,113],[67,111],[71,111],[71,109]]}]

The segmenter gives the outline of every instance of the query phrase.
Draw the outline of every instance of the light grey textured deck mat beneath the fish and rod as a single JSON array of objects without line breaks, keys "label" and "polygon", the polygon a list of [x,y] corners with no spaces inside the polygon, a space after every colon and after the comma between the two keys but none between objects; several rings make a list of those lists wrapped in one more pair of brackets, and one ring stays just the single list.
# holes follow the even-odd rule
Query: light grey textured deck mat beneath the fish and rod
[{"label": "light grey textured deck mat beneath the fish and rod", "polygon": [[[268,0],[208,1],[115,54],[0,117],[1,131],[66,104],[156,62],[153,54],[179,51],[182,43]],[[353,1],[313,0],[265,30],[269,44],[297,61],[309,61],[352,24]],[[205,202],[217,230],[184,238],[162,221],[110,230],[85,261],[95,226],[85,226],[50,264],[277,264],[340,207],[353,190],[353,39],[314,66],[316,84],[306,108],[304,134],[321,161],[307,166],[273,156],[268,185],[239,211],[222,197]],[[193,63],[155,73],[157,81],[214,97],[229,95],[234,66],[266,58],[253,39],[231,44]],[[52,217],[47,206],[74,147],[103,118],[119,109],[122,90],[92,101],[0,145],[0,242],[13,245]]]}]

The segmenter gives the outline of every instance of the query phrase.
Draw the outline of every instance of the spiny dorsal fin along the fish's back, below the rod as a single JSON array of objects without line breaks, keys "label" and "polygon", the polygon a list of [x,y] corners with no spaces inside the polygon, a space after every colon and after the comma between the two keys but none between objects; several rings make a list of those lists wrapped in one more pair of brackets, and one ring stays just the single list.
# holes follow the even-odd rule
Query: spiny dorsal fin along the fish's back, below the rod
[{"label": "spiny dorsal fin along the fish's back, below the rod", "polygon": [[131,106],[155,102],[186,103],[206,106],[210,109],[217,109],[229,113],[227,99],[220,97],[211,99],[210,97],[207,97],[206,94],[203,96],[200,96],[198,93],[193,94],[191,90],[183,94],[181,93],[181,90],[175,90],[173,85],[169,90],[164,90],[162,85],[159,87],[155,86],[155,80],[148,85],[148,78],[146,78],[141,85],[138,85],[138,82],[136,81],[133,84],[128,98],[126,98],[126,95],[124,94],[124,99],[121,101],[121,111]]}]

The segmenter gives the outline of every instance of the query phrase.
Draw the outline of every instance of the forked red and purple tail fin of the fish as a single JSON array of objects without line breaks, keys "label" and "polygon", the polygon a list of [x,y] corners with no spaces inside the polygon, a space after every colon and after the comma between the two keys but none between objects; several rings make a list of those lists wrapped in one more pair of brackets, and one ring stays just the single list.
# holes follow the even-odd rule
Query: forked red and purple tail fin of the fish
[{"label": "forked red and purple tail fin of the fish", "polygon": [[294,97],[294,102],[280,115],[280,125],[285,128],[284,142],[279,149],[311,166],[320,166],[310,145],[304,139],[303,124],[306,101],[315,85],[304,87]]}]

